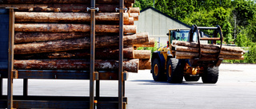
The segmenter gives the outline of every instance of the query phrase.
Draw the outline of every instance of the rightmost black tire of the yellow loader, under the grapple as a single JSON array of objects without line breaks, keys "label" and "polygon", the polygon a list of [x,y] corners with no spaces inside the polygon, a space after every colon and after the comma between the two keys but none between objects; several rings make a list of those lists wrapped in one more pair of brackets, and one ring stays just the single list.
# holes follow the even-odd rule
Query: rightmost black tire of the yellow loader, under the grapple
[{"label": "rightmost black tire of the yellow loader, under the grapple", "polygon": [[202,82],[204,84],[216,84],[218,81],[218,67],[204,68]]}]

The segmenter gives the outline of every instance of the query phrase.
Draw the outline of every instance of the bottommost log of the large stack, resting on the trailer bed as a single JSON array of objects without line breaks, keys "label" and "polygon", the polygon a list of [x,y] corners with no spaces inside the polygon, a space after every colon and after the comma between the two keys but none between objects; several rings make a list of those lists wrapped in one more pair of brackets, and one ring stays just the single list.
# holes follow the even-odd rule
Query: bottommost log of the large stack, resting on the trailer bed
[{"label": "bottommost log of the large stack, resting on the trailer bed", "polygon": [[[138,72],[138,59],[124,60],[123,69]],[[89,70],[90,60],[14,60],[15,69],[34,70]],[[118,60],[95,60],[97,71],[117,71]]]}]

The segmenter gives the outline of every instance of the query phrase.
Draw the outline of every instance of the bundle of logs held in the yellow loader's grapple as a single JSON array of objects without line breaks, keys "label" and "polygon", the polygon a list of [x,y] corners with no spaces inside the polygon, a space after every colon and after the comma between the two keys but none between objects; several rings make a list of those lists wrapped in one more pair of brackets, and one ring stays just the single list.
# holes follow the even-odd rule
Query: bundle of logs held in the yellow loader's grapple
[{"label": "bundle of logs held in the yellow loader's grapple", "polygon": [[[211,44],[200,44],[201,46],[201,57],[206,60],[216,60],[220,45]],[[175,57],[177,59],[192,59],[197,58],[199,55],[199,45],[195,42],[186,41],[173,41],[172,49],[174,50]],[[223,60],[243,60],[245,53],[240,47],[232,47],[222,45],[221,52],[219,53],[219,58]]]}]

